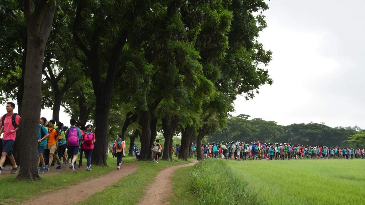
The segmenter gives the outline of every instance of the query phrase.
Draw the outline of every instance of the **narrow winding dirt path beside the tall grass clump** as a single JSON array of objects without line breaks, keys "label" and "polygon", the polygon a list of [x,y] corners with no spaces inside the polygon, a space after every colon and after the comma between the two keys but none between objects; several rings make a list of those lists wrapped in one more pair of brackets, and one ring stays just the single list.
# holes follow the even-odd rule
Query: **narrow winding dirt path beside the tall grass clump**
[{"label": "narrow winding dirt path beside the tall grass clump", "polygon": [[166,204],[164,199],[172,195],[172,181],[171,178],[175,171],[181,167],[193,166],[197,163],[197,160],[193,160],[193,163],[167,167],[162,169],[155,177],[155,181],[147,185],[146,195],[139,201],[138,205],[161,205]]}]

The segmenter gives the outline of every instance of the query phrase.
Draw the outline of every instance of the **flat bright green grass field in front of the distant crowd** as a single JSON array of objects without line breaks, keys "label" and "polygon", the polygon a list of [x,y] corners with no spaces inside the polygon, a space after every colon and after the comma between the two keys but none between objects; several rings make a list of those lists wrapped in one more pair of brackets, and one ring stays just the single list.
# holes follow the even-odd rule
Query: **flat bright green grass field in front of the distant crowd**
[{"label": "flat bright green grass field in front of the distant crowd", "polygon": [[365,204],[365,160],[230,160],[267,205]]}]

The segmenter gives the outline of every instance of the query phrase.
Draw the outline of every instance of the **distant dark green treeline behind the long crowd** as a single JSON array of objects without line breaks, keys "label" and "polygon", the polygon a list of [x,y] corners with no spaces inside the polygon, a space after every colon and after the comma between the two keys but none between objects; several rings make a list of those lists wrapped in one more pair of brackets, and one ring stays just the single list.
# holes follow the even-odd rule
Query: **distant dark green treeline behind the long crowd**
[{"label": "distant dark green treeline behind the long crowd", "polygon": [[[328,127],[324,123],[278,125],[275,121],[265,121],[261,118],[248,120],[249,115],[231,117],[226,128],[210,134],[207,142],[254,140],[268,143],[292,143],[319,146],[356,146],[364,148],[365,134],[361,128]],[[356,130],[357,129],[357,130]]]}]

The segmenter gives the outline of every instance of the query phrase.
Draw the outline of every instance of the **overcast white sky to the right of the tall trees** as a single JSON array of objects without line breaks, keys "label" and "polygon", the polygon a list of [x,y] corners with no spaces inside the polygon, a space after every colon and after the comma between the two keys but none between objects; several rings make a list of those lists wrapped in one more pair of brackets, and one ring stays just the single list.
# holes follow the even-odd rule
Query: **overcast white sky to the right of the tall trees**
[{"label": "overcast white sky to the right of the tall trees", "polygon": [[273,52],[261,86],[235,112],[281,125],[322,123],[365,128],[365,1],[266,1],[268,27],[258,41]]}]

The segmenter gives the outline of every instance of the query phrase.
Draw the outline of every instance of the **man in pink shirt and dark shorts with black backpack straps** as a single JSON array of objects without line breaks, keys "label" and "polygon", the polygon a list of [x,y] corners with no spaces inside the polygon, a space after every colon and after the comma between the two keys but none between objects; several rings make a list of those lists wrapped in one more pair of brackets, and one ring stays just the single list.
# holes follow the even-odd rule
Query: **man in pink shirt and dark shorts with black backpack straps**
[{"label": "man in pink shirt and dark shorts with black backpack straps", "polygon": [[8,155],[13,168],[10,173],[17,173],[19,166],[16,165],[13,156],[13,144],[15,141],[16,131],[18,130],[20,116],[14,113],[15,104],[14,102],[8,102],[6,104],[7,113],[0,118],[0,135],[3,135],[3,152],[1,153],[0,159],[0,174],[3,171],[3,165],[5,163],[6,155]]}]

